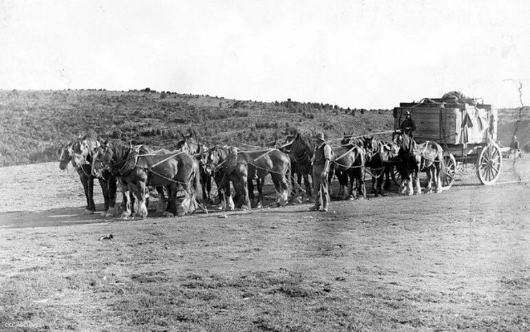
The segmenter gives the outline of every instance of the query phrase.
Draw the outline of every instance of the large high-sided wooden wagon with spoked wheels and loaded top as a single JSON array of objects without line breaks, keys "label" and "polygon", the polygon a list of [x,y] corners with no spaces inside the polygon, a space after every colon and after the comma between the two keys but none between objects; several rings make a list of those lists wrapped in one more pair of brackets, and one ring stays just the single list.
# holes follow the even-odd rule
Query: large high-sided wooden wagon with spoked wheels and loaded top
[{"label": "large high-sided wooden wagon with spoked wheels and loaded top", "polygon": [[493,185],[499,178],[502,154],[497,141],[497,110],[480,98],[449,92],[442,98],[423,98],[394,108],[394,127],[399,129],[405,112],[416,123],[414,141],[434,141],[444,149],[447,172],[443,188],[454,183],[457,165],[476,163],[480,183]]}]

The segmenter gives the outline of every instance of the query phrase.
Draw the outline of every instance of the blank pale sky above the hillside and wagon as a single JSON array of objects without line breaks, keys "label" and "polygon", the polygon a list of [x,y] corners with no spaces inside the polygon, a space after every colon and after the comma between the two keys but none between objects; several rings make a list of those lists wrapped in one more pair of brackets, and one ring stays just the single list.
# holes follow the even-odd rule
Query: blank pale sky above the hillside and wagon
[{"label": "blank pale sky above the hillside and wagon", "polygon": [[530,1],[0,0],[0,89],[530,103]]}]

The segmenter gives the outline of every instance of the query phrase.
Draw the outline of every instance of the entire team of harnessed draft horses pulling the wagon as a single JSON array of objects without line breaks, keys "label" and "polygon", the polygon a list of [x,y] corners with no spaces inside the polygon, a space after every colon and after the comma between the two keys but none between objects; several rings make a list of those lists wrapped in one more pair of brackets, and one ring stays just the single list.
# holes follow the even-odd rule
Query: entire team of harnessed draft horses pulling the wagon
[{"label": "entire team of harnessed draft horses pulling the wagon", "polygon": [[[383,178],[385,189],[390,187],[392,167],[402,178],[402,193],[421,193],[418,176],[421,171],[427,173],[425,192],[432,191],[433,187],[435,192],[441,191],[445,164],[443,150],[437,143],[418,144],[402,131],[394,132],[392,141],[353,135],[334,141],[340,144],[330,145],[328,181],[334,175],[339,180],[338,198],[354,199],[359,193],[366,197],[365,173],[372,175],[372,193],[382,194]],[[94,179],[98,179],[105,198],[104,216],[116,216],[118,187],[123,194],[121,218],[147,217],[149,188],[155,188],[158,194],[157,214],[183,216],[196,209],[207,211],[205,204],[213,203],[212,178],[222,209],[251,209],[251,201],[255,200],[254,180],[258,191],[255,206],[262,207],[262,186],[268,174],[276,191],[271,206],[286,205],[289,196],[292,199],[305,193],[311,197],[309,175],[315,144],[309,134],[297,134],[279,146],[242,151],[226,145],[208,147],[193,136],[182,136],[177,150],[169,151],[79,136],[61,147],[59,167],[65,169],[72,163],[78,172],[87,199],[85,214],[96,211],[93,188]],[[302,178],[305,190],[301,187]],[[178,191],[184,192],[180,204],[177,204]]]}]

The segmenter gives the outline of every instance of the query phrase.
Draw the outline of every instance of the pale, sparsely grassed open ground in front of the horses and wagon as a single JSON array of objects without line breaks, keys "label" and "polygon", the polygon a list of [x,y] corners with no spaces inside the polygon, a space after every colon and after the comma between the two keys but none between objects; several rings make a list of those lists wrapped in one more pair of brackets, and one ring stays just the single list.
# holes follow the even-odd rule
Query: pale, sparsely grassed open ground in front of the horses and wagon
[{"label": "pale, sparsely grassed open ground in front of the horses and wagon", "polygon": [[504,185],[470,170],[442,194],[328,214],[129,221],[82,215],[77,174],[56,163],[5,167],[1,329],[527,331],[530,190],[513,183],[527,163],[505,163]]}]

